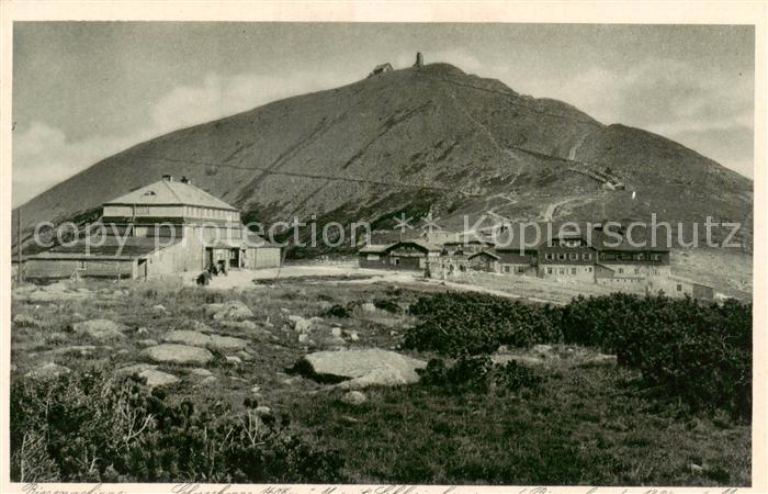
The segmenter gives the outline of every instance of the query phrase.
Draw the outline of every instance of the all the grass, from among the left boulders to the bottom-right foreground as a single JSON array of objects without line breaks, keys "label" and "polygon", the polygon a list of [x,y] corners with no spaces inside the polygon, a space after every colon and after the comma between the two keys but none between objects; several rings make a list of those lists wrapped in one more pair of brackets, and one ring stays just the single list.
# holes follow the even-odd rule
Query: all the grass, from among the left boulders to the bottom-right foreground
[{"label": "all the grass, from among the left boulders to the bottom-right foreground", "polygon": [[[90,285],[89,285],[90,287]],[[99,289],[113,290],[101,283]],[[331,325],[354,330],[360,341],[350,348],[396,348],[414,318],[407,314],[364,312],[363,302],[392,301],[399,307],[420,292],[391,284],[307,284],[281,280],[272,287],[215,291],[176,283],[123,283],[126,293],[59,302],[13,300],[12,313],[25,314],[41,327],[13,325],[12,383],[27,370],[54,361],[76,372],[113,370],[140,361],[138,340],[158,341],[171,329],[204,322],[216,333],[249,338],[253,360],[237,367],[217,358],[208,369],[218,381],[201,388],[182,366],[160,366],[181,378],[168,389],[172,400],[196,405],[211,400],[242,411],[251,389],[258,401],[278,415],[290,415],[307,437],[345,460],[345,482],[436,484],[656,484],[748,485],[750,427],[726,416],[692,415],[675,402],[639,388],[637,374],[621,368],[591,367],[545,371],[535,390],[447,392],[417,384],[369,389],[368,402],[352,406],[339,391],[286,370],[307,349],[297,341],[287,313],[321,316],[334,304],[350,317],[324,317],[319,333]],[[436,290],[426,287],[426,290]],[[264,341],[226,329],[206,317],[204,304],[241,300],[253,321],[275,336]],[[151,311],[162,304],[168,313]],[[388,305],[380,303],[380,305]],[[68,330],[78,319],[110,318],[128,327],[118,341],[94,343]],[[267,324],[269,322],[269,324]],[[148,334],[138,335],[145,327]],[[108,345],[90,357],[50,352],[64,346]],[[321,340],[317,349],[324,349]],[[121,351],[127,350],[127,351]],[[407,352],[428,360],[430,353]],[[703,471],[691,470],[691,464]]]}]

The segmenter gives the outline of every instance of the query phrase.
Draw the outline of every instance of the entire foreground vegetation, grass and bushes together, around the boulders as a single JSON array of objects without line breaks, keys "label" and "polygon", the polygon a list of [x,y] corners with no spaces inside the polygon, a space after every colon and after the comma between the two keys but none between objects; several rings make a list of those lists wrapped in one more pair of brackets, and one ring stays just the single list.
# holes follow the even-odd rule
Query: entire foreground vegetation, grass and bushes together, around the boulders
[{"label": "entire foreground vegetation, grass and bushes together, around the boulders", "polygon": [[[87,358],[61,355],[60,363],[74,372],[58,381],[20,375],[32,355],[72,338],[66,326],[76,312],[89,317],[109,310],[111,318],[159,337],[204,317],[204,303],[233,299],[271,321],[279,341],[257,344],[253,362],[215,363],[214,388],[182,380],[149,393],[136,382],[114,380],[112,369],[132,362],[131,352],[115,350],[134,348],[138,336]],[[360,310],[370,301],[377,312]],[[136,311],[156,303],[169,313]],[[12,332],[12,360],[20,367],[12,374],[13,479],[23,469],[24,480],[37,481],[748,485],[750,427],[738,393],[750,388],[752,350],[744,336],[750,307],[679,303],[613,296],[555,308],[465,293],[425,296],[386,285],[290,281],[239,292],[137,287],[120,300],[61,305],[14,301],[14,314],[34,316],[43,327],[14,324]],[[351,347],[403,344],[430,363],[419,384],[369,389],[362,405],[343,403],[340,391],[309,380],[287,384],[282,372],[307,349],[278,329],[282,310],[358,330],[361,340]],[[705,335],[707,325],[714,337]],[[655,333],[611,340],[633,327]],[[523,368],[488,359],[500,344],[537,343],[615,349],[621,364]],[[647,358],[663,347],[660,381],[642,364],[651,360],[621,356],[626,345]],[[693,357],[705,386],[682,385],[693,363],[676,356]],[[276,418],[256,420],[253,383],[263,388],[259,403]],[[686,390],[694,390],[694,400]],[[52,406],[57,413],[46,414]],[[140,426],[131,424],[150,414],[151,426],[137,434]],[[133,418],[117,418],[125,416]],[[261,427],[258,440],[253,423]]]}]

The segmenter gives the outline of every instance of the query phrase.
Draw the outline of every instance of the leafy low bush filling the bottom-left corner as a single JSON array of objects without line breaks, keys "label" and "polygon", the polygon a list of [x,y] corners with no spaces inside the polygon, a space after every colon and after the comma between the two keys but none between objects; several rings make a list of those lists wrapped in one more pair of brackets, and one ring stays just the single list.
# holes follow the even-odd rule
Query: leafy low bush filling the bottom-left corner
[{"label": "leafy low bush filling the bottom-left corner", "polygon": [[95,371],[11,388],[16,482],[330,483],[341,467],[287,418],[234,414],[221,402],[197,411]]}]

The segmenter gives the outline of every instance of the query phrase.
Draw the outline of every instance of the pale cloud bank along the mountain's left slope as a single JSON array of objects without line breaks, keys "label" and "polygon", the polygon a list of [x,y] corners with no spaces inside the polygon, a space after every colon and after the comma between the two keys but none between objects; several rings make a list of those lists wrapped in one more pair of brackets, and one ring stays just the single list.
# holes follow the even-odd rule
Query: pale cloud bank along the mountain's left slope
[{"label": "pale cloud bank along the mountain's left slope", "polygon": [[[13,135],[13,205],[84,170],[100,159],[151,137],[257,108],[270,101],[330,89],[352,80],[337,72],[294,72],[285,77],[207,75],[197,85],[180,86],[149,110],[148,124],[123,135],[94,134],[69,141],[59,128],[32,122]],[[22,171],[23,170],[23,171]]]}]

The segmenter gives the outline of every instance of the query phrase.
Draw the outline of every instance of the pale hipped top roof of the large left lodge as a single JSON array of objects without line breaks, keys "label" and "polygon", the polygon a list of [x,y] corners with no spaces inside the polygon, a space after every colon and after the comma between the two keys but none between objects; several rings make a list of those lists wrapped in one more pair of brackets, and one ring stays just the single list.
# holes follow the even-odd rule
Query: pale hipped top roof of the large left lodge
[{"label": "pale hipped top roof of the large left lodge", "polygon": [[236,207],[227,204],[214,195],[211,195],[190,183],[174,182],[171,180],[159,180],[104,203],[104,205],[110,204],[183,204],[237,211]]}]

